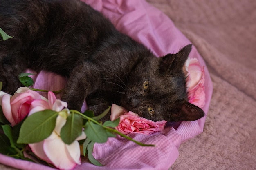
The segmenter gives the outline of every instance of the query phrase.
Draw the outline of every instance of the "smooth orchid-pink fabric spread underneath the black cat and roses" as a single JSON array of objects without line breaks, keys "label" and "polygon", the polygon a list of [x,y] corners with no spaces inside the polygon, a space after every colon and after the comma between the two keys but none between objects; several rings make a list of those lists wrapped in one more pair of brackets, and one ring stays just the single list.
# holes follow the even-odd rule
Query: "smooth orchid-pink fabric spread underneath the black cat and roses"
[{"label": "smooth orchid-pink fabric spread underneath the black cat and roses", "polygon": [[[83,1],[108,17],[119,31],[143,43],[158,56],[177,53],[182,47],[190,44],[166,15],[147,4],[145,0]],[[202,57],[194,47],[189,56],[196,57],[200,64],[205,66]],[[52,73],[41,72],[35,78],[34,88],[59,90],[65,87],[65,79]],[[212,83],[206,66],[204,85],[206,104],[202,109],[207,113]],[[177,159],[180,144],[203,131],[205,119],[206,116],[198,121],[169,123],[163,131],[149,136],[129,135],[137,141],[155,144],[156,147],[138,146],[122,137],[109,138],[106,143],[94,145],[94,157],[105,166],[97,167],[82,159],[82,164],[76,166],[75,170],[167,170]],[[24,170],[52,170],[47,166],[4,155],[0,155],[0,163]]]}]

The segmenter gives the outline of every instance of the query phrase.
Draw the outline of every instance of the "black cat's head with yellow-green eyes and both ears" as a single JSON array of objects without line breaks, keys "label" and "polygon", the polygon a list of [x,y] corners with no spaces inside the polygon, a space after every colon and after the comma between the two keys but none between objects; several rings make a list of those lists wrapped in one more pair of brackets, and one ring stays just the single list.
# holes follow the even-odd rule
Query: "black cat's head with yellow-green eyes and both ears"
[{"label": "black cat's head with yellow-green eyes and both ears", "polygon": [[183,66],[191,44],[176,54],[143,57],[132,71],[122,105],[153,121],[194,121],[204,111],[188,102]]}]

